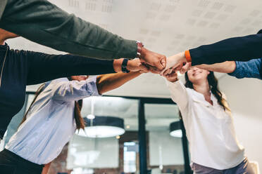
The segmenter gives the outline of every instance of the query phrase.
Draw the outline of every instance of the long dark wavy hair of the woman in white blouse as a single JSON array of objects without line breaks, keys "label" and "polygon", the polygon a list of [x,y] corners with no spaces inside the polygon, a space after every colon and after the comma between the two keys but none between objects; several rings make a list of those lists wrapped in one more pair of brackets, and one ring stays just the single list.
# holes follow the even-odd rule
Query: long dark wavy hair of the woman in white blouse
[{"label": "long dark wavy hair of the woman in white blouse", "polygon": [[[222,93],[219,91],[218,88],[218,79],[216,79],[216,76],[214,75],[214,72],[210,72],[207,76],[208,79],[208,85],[211,90],[211,93],[215,95],[216,99],[218,100],[218,104],[223,107],[223,109],[230,110],[226,105],[226,100],[223,98]],[[185,73],[185,87],[192,88],[193,89],[193,83],[189,81],[187,72]]]}]

